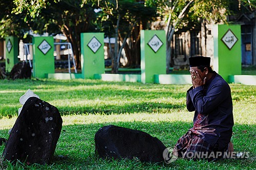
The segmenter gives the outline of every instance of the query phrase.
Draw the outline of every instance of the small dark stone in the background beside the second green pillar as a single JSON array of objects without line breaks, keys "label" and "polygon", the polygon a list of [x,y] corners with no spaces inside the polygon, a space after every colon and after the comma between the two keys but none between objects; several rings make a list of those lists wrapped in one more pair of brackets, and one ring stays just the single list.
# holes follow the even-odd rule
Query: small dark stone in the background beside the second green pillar
[{"label": "small dark stone in the background beside the second green pillar", "polygon": [[17,63],[12,67],[10,72],[10,79],[30,79],[31,69],[32,68],[30,67],[29,63]]}]

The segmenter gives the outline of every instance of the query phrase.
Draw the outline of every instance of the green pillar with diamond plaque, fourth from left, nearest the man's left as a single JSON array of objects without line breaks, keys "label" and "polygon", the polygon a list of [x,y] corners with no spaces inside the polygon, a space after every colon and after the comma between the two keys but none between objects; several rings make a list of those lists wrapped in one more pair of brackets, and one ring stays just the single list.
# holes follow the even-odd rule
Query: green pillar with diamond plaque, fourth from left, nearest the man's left
[{"label": "green pillar with diamond plaque, fourth from left, nearest the man's left", "polygon": [[154,75],[166,74],[166,37],[163,30],[141,30],[141,82],[154,83]]}]

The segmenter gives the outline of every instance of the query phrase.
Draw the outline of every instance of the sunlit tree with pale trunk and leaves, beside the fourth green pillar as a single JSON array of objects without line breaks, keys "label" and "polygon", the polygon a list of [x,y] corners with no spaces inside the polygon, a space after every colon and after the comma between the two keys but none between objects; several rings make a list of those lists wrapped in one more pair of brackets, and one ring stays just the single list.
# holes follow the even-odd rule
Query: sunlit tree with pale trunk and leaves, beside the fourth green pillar
[{"label": "sunlit tree with pale trunk and leaves, beside the fourth green pillar", "polygon": [[[239,0],[240,5],[255,10],[255,0]],[[226,22],[226,16],[231,14],[233,0],[146,0],[145,4],[157,7],[161,20],[166,22],[166,72],[169,71],[172,56],[171,41],[176,32],[189,30],[189,24],[206,19],[212,23]],[[232,7],[233,8],[233,7]],[[239,8],[239,6],[238,6]],[[193,26],[192,25],[192,26]]]}]

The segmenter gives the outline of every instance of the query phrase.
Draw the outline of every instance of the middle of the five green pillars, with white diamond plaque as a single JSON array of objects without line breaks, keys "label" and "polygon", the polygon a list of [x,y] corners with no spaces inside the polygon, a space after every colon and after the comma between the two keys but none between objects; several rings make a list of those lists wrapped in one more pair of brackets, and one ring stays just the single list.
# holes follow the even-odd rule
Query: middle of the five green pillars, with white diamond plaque
[{"label": "middle of the five green pillars, with white diamond plaque", "polygon": [[81,69],[84,79],[105,72],[104,33],[81,33]]}]

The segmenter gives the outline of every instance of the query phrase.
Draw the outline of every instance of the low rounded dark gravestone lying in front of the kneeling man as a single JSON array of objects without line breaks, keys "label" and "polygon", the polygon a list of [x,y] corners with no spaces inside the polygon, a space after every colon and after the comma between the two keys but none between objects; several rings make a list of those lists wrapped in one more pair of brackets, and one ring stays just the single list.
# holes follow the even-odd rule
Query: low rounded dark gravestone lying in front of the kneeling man
[{"label": "low rounded dark gravestone lying in front of the kneeling man", "polygon": [[164,144],[142,131],[104,126],[95,134],[95,153],[100,158],[138,158],[142,162],[162,162]]}]

